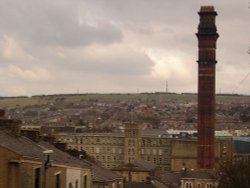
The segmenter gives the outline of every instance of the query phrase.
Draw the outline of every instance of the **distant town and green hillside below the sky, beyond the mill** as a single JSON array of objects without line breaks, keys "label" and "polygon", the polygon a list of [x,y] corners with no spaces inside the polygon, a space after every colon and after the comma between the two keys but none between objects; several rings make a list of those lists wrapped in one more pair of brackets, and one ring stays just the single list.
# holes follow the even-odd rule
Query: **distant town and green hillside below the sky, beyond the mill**
[{"label": "distant town and green hillside below the sky, beyond the mill", "polygon": [[[250,132],[250,96],[216,97],[216,130],[246,136]],[[175,93],[67,94],[2,97],[10,118],[22,119],[22,129],[53,132],[115,132],[126,121],[143,129],[195,130],[197,95]]]}]

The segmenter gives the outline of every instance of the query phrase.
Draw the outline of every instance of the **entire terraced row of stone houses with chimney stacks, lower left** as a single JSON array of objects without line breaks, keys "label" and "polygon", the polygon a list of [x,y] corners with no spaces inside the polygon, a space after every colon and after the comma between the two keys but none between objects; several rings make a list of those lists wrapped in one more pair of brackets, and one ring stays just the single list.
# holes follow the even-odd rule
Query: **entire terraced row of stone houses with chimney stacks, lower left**
[{"label": "entire terraced row of stone houses with chimney stacks, lower left", "polygon": [[123,177],[21,136],[20,121],[0,112],[0,188],[123,188]]}]

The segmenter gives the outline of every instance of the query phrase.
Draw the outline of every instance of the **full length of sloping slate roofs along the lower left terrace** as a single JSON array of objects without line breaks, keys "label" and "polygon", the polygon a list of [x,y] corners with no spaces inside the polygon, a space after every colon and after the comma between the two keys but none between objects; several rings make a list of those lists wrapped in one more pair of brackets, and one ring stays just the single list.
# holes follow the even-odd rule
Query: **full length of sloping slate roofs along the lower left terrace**
[{"label": "full length of sloping slate roofs along the lower left terrace", "polygon": [[122,176],[115,174],[111,170],[100,167],[89,161],[83,161],[72,157],[47,142],[33,142],[32,140],[23,136],[13,136],[8,131],[0,131],[0,147],[7,148],[17,153],[21,156],[21,159],[37,162],[42,162],[44,159],[43,151],[53,150],[53,153],[50,154],[52,163],[92,169],[93,182],[107,183],[123,179]]}]

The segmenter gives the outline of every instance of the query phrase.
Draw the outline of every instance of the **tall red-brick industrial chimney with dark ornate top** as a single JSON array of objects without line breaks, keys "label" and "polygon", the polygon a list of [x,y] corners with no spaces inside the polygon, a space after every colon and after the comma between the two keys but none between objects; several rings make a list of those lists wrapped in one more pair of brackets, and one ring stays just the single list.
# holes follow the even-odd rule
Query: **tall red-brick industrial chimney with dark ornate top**
[{"label": "tall red-brick industrial chimney with dark ornate top", "polygon": [[201,6],[198,26],[198,147],[200,169],[214,168],[215,143],[215,57],[219,37],[215,25],[217,13],[213,6]]}]

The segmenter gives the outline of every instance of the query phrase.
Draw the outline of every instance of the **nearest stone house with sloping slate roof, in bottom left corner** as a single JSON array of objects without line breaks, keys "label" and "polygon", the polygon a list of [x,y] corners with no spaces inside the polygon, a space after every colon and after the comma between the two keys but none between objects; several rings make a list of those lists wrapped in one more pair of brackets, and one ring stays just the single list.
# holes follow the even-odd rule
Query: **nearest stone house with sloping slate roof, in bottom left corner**
[{"label": "nearest stone house with sloping slate roof, in bottom left corner", "polygon": [[[46,162],[44,151],[52,151]],[[46,164],[46,165],[45,165]],[[44,142],[0,131],[0,187],[89,188],[91,168]]]}]

